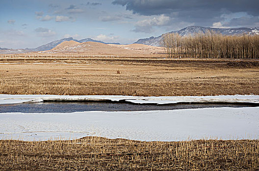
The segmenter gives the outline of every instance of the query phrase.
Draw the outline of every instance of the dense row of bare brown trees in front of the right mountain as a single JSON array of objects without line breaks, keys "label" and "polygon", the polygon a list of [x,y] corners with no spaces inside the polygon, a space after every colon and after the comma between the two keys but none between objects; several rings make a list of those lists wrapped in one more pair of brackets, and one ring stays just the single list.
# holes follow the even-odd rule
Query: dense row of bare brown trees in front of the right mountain
[{"label": "dense row of bare brown trees in front of the right mountain", "polygon": [[259,35],[223,36],[207,32],[181,37],[168,33],[161,45],[169,58],[259,59]]}]

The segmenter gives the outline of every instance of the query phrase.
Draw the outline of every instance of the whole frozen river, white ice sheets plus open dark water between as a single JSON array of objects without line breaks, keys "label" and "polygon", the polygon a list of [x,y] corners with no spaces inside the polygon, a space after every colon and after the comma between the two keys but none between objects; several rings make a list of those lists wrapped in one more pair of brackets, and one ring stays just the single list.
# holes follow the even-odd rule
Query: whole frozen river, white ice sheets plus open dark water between
[{"label": "whole frozen river, white ice sheets plus open dark water between", "polygon": [[0,104],[0,139],[259,138],[259,96],[0,95]]}]

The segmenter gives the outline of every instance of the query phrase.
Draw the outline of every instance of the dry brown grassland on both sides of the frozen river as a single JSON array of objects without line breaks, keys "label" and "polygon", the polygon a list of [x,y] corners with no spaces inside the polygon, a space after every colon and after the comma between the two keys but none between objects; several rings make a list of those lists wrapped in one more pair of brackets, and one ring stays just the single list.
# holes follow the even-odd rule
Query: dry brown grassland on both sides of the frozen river
[{"label": "dry brown grassland on both sides of the frozen river", "polygon": [[[0,63],[0,94],[259,95],[255,60],[63,57]],[[0,140],[0,170],[259,171],[259,140]]]}]

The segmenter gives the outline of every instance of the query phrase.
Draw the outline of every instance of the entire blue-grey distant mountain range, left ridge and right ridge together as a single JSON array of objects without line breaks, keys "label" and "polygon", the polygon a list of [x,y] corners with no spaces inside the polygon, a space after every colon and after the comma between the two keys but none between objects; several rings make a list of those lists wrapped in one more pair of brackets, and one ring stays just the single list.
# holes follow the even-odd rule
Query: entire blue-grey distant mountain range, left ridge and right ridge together
[{"label": "entire blue-grey distant mountain range, left ridge and right ridge together", "polygon": [[[168,33],[178,33],[180,36],[187,36],[187,35],[194,35],[195,33],[206,33],[208,31],[213,31],[215,33],[220,33],[222,35],[242,35],[242,34],[249,34],[249,35],[259,35],[259,27],[254,28],[246,28],[246,27],[240,27],[240,28],[211,28],[211,27],[201,27],[201,26],[189,26],[185,27],[179,31],[172,31]],[[168,34],[165,33],[165,34]],[[146,44],[151,46],[160,46],[160,42],[162,40],[163,35],[162,34],[158,37],[150,37],[146,39],[139,39],[137,42],[138,44]],[[57,41],[53,41],[51,43],[47,43],[44,45],[41,45],[36,48],[26,48],[26,49],[8,49],[8,48],[0,48],[0,53],[24,53],[24,52],[30,52],[30,51],[45,51],[50,50],[57,46],[58,44],[65,42],[65,41],[75,41],[78,43],[84,43],[84,42],[97,42],[97,43],[104,43],[102,41],[96,41],[90,38],[87,39],[81,39],[76,40],[72,37],[70,38],[64,38]],[[120,44],[120,43],[104,43],[104,44]]]}]

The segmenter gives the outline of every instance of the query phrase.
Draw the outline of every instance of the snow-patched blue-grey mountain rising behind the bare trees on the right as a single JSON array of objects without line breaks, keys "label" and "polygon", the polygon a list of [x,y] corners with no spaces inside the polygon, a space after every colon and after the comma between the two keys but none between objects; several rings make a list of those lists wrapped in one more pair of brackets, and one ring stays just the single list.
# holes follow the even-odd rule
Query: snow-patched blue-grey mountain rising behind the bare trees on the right
[{"label": "snow-patched blue-grey mountain rising behind the bare trees on the right", "polygon": [[[194,35],[195,33],[206,33],[208,31],[213,31],[215,33],[220,33],[222,35],[242,35],[242,34],[249,34],[249,35],[259,35],[259,28],[246,28],[246,27],[240,27],[240,28],[211,28],[211,27],[201,27],[201,26],[189,26],[185,27],[179,31],[172,31],[168,33],[178,33],[180,36],[187,36],[187,35]],[[165,33],[165,34],[168,34]],[[163,35],[158,37],[150,37],[146,39],[139,39],[135,43],[139,44],[146,44],[151,46],[160,46],[160,42],[162,40]]]}]

